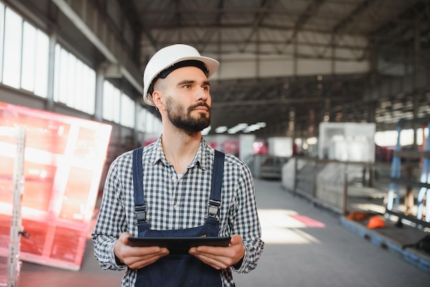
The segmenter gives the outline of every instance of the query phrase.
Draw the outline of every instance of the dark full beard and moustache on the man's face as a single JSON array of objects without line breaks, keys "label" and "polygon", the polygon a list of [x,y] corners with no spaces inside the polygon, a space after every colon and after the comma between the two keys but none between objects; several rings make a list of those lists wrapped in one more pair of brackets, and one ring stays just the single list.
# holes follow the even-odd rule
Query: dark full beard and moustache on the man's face
[{"label": "dark full beard and moustache on the man's face", "polygon": [[[209,117],[203,114],[200,114],[198,117],[192,117],[191,112],[198,106],[205,106],[209,111]],[[183,106],[179,104],[175,105],[171,100],[167,100],[167,114],[170,122],[177,128],[185,131],[185,133],[198,133],[210,125],[210,106],[205,102],[199,102],[198,104],[190,106],[185,115],[181,113],[182,111],[184,111]]]}]

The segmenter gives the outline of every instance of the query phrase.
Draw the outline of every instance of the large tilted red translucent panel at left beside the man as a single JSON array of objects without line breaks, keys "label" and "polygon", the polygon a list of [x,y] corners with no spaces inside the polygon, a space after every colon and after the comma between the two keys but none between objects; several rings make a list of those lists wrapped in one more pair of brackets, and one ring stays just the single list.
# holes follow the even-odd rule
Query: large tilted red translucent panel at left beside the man
[{"label": "large tilted red translucent panel at left beside the man", "polygon": [[[0,126],[26,131],[21,218],[30,237],[21,237],[20,259],[79,270],[111,126],[4,103]],[[14,150],[12,140],[0,138],[1,221],[12,211]]]}]

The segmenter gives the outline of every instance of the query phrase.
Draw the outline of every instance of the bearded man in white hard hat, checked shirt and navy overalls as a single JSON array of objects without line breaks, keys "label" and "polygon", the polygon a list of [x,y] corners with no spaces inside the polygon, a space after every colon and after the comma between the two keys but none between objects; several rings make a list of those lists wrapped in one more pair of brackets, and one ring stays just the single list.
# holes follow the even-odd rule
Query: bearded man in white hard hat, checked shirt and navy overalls
[{"label": "bearded man in white hard hat, checked shirt and navy overalls", "polygon": [[[177,44],[157,51],[146,66],[144,102],[161,114],[163,132],[155,143],[113,161],[93,231],[102,268],[126,270],[123,287],[234,286],[231,270],[247,273],[260,258],[264,243],[251,172],[201,135],[210,125],[208,78],[218,65]],[[231,240],[192,247],[186,255],[128,240],[172,236]]]}]

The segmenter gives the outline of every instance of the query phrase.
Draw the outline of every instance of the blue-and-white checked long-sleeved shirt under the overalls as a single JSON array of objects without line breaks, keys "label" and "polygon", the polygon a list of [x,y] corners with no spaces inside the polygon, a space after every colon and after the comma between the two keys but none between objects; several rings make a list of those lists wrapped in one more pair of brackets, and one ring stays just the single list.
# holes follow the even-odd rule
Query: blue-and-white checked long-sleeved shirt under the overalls
[{"label": "blue-and-white checked long-sleeved shirt under the overalls", "polygon": [[[132,151],[117,157],[109,168],[100,214],[93,230],[94,254],[104,269],[126,270],[122,287],[135,286],[136,270],[115,262],[113,245],[127,231],[137,237],[133,198]],[[143,151],[144,196],[152,230],[184,229],[203,225],[210,197],[214,149],[202,139],[188,169],[177,174],[161,148],[161,137]],[[240,234],[245,257],[237,273],[256,268],[264,242],[261,238],[251,172],[232,154],[225,155],[221,190],[219,236]],[[231,269],[222,273],[223,286],[234,286]]]}]

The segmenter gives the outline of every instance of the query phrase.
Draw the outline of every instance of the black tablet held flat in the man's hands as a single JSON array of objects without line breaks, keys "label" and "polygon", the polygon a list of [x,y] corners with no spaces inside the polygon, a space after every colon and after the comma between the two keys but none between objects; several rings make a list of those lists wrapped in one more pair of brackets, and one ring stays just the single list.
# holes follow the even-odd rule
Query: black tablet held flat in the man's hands
[{"label": "black tablet held flat in the man's hands", "polygon": [[196,246],[229,246],[230,237],[129,237],[131,246],[160,246],[169,249],[170,254],[188,254]]}]

